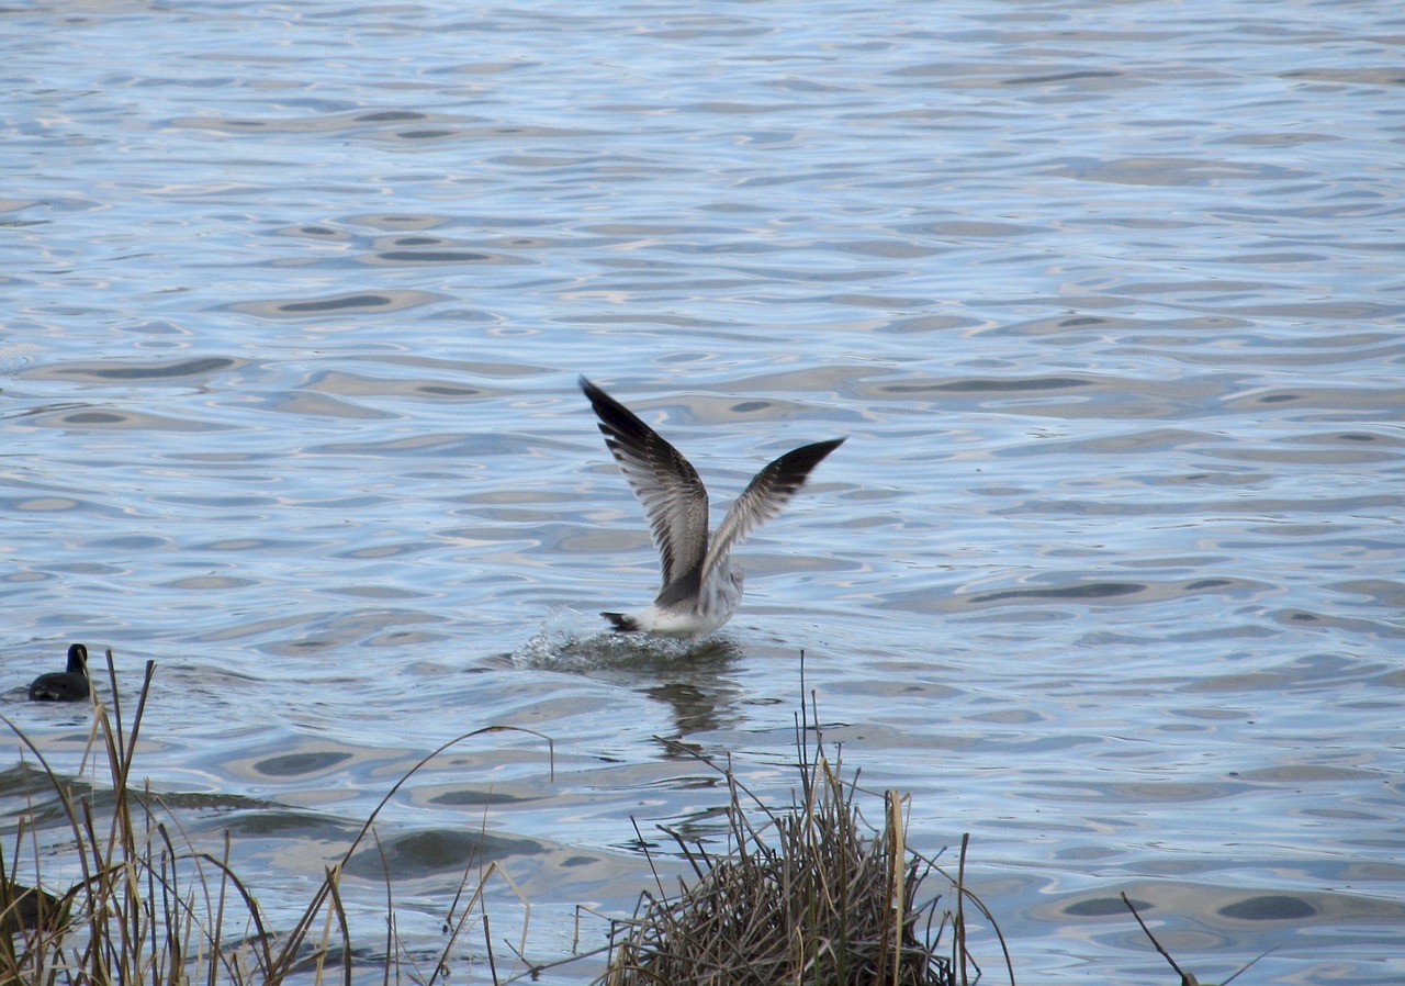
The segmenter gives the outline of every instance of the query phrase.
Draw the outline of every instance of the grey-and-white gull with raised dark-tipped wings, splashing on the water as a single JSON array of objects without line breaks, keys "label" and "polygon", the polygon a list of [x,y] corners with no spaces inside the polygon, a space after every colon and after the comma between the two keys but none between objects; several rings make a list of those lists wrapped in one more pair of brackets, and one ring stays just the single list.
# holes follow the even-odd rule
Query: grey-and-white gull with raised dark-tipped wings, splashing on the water
[{"label": "grey-and-white gull with raised dark-tipped wings, splashing on the water", "polygon": [[691,639],[711,633],[732,618],[742,600],[742,570],[732,563],[732,548],[776,517],[804,486],[811,469],[844,440],[802,445],[767,465],[736,497],[708,541],[707,487],[693,464],[584,376],[580,389],[600,419],[606,447],[643,504],[663,574],[652,605],[600,615],[614,624],[617,633]]}]

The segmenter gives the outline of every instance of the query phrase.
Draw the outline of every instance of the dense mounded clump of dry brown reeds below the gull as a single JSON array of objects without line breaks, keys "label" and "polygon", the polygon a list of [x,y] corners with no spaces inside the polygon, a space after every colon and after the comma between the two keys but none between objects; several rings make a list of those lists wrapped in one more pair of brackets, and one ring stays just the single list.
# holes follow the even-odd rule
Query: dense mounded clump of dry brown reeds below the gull
[{"label": "dense mounded clump of dry brown reeds below the gull", "polygon": [[[811,743],[811,736],[813,743]],[[989,912],[932,858],[908,847],[905,798],[882,795],[882,820],[864,820],[857,774],[844,780],[816,726],[797,723],[799,787],[770,808],[726,767],[724,853],[663,829],[695,879],[641,895],[615,924],[597,986],[957,986],[979,978],[967,951],[965,906]],[[695,756],[695,754],[694,754]],[[658,874],[658,871],[655,871]],[[933,883],[953,892],[922,900]]]}]

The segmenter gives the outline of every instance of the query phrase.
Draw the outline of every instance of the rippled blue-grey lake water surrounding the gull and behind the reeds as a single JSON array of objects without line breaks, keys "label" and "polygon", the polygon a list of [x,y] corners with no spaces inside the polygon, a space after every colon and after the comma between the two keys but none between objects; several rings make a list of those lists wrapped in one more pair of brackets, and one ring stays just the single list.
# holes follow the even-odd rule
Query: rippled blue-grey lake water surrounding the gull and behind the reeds
[{"label": "rippled blue-grey lake water surrounding the gull and behind the reeds", "polygon": [[[635,823],[715,826],[665,740],[784,801],[813,690],[917,848],[971,833],[1021,982],[1169,982],[1124,890],[1201,979],[1405,980],[1395,4],[0,28],[0,711],[77,774],[89,712],[24,685],[155,660],[139,770],[275,924],[420,757],[514,725],[554,764],[468,740],[379,831],[412,951],[479,847],[559,958],[652,885]],[[715,508],[849,437],[700,652],[596,636],[656,559],[580,374]]]}]

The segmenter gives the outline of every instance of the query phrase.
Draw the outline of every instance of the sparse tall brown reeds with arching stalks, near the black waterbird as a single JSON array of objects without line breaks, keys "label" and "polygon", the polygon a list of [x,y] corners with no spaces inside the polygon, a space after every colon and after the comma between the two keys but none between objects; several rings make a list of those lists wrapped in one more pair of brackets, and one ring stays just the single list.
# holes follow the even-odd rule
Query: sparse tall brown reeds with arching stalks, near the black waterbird
[{"label": "sparse tall brown reeds with arching stalks, near the black waterbird", "polygon": [[[230,869],[228,834],[216,853],[195,848],[149,785],[131,785],[155,663],[146,664],[129,725],[124,723],[111,650],[107,652],[107,663],[112,698],[110,705],[96,695],[93,698],[90,746],[100,760],[105,757],[110,788],[55,773],[24,732],[0,716],[39,764],[38,771],[28,773],[53,791],[56,808],[45,809],[51,816],[45,824],[46,839],[52,841],[53,816],[58,816],[60,827],[67,829],[62,844],[41,848],[32,810],[20,812],[18,817],[4,823],[14,839],[8,858],[0,847],[0,986],[278,986],[289,979],[350,985],[353,965],[364,966],[367,959],[353,961],[354,954],[364,951],[353,948],[341,899],[346,864],[368,837],[374,840],[377,816],[424,764],[472,736],[513,729],[475,729],[420,760],[377,805],[341,858],[326,867],[322,883],[294,926],[273,928],[249,886]],[[549,747],[551,740],[547,743]],[[25,882],[20,882],[21,857],[30,861],[22,874]],[[30,886],[31,882],[49,883],[49,890],[56,890],[44,872],[55,868],[70,878],[76,871],[80,878],[62,895]],[[481,872],[465,871],[455,906],[444,921],[443,949],[433,955],[412,955],[395,938],[391,917],[393,896],[386,874],[386,938],[368,949],[381,955],[378,962],[384,969],[377,971],[377,978],[386,983],[447,979],[451,949],[469,917],[481,913],[486,882],[495,872],[511,886],[496,864]],[[486,916],[482,920],[486,928]],[[525,942],[525,923],[521,933]],[[492,965],[490,947],[485,952]],[[371,965],[377,968],[377,961]]]}]

